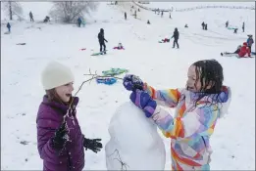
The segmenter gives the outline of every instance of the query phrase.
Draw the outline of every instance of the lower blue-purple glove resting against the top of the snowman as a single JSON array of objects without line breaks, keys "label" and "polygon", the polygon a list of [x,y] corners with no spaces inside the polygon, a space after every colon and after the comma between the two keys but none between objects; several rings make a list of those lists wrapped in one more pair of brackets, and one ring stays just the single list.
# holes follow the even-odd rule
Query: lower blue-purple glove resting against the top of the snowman
[{"label": "lower blue-purple glove resting against the top of the snowman", "polygon": [[129,99],[136,107],[140,107],[144,111],[146,117],[151,117],[157,107],[156,102],[145,91],[132,91]]}]

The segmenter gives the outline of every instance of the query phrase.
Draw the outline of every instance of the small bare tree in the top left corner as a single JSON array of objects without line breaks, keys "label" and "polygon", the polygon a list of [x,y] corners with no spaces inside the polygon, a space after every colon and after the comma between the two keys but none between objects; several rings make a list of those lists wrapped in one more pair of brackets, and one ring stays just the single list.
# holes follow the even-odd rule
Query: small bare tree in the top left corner
[{"label": "small bare tree in the top left corner", "polygon": [[13,21],[14,16],[17,16],[18,19],[22,19],[23,8],[19,2],[7,1],[3,3],[3,10],[9,16],[10,21]]}]

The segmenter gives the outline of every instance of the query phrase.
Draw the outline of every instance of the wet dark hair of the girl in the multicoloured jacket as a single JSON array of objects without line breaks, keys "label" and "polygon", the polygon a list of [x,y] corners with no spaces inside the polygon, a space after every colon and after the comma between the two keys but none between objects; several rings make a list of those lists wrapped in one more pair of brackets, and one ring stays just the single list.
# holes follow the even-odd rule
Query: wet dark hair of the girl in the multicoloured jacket
[{"label": "wet dark hair of the girl in the multicoloured jacket", "polygon": [[[203,97],[213,95],[214,101],[213,103],[219,103],[219,96],[222,92],[223,87],[223,66],[219,64],[216,60],[203,60],[198,61],[192,64],[195,66],[196,72],[196,82],[200,81],[201,89],[199,93],[198,99],[195,101],[195,106],[198,101],[200,101]],[[200,76],[200,77],[199,77]],[[209,89],[206,89],[211,85]],[[212,105],[212,104],[211,104]]]}]

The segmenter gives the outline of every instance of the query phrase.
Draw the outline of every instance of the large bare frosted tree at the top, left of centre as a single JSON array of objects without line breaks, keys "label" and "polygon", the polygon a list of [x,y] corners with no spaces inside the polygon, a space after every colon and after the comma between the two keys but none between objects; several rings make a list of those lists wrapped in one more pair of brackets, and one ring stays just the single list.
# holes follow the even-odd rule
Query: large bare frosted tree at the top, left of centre
[{"label": "large bare frosted tree at the top, left of centre", "polygon": [[97,8],[96,2],[88,1],[62,1],[53,2],[54,6],[50,12],[50,16],[57,21],[72,23],[78,17],[83,17]]}]

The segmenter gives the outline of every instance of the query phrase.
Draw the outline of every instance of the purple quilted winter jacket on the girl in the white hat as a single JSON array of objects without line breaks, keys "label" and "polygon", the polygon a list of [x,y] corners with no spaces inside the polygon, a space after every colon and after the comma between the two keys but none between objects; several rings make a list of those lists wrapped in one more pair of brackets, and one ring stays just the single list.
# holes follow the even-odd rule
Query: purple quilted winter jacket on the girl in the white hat
[{"label": "purple quilted winter jacket on the girl in the white hat", "polygon": [[[77,97],[73,104],[77,107]],[[43,159],[44,171],[81,171],[84,167],[83,135],[77,121],[76,110],[72,113],[73,118],[67,117],[66,119],[71,140],[67,142],[66,149],[58,155],[51,147],[55,131],[60,127],[67,110],[68,107],[65,105],[48,102],[46,95],[38,109],[37,149]]]}]

